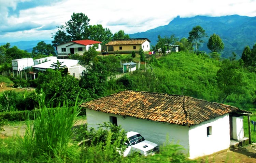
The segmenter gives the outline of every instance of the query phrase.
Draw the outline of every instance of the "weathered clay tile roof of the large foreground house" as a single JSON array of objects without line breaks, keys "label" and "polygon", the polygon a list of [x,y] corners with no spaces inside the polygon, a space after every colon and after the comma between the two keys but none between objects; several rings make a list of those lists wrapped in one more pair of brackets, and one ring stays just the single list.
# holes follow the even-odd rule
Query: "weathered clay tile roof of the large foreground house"
[{"label": "weathered clay tile roof of the large foreground house", "polygon": [[177,125],[196,125],[235,112],[251,114],[237,107],[189,96],[125,90],[84,103],[81,107]]}]

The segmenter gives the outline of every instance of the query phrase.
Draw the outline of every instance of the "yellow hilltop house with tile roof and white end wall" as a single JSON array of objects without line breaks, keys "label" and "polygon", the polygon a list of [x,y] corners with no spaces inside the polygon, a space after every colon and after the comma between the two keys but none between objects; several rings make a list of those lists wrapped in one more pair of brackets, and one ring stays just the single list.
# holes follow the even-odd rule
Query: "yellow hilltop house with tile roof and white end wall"
[{"label": "yellow hilltop house with tile roof and white end wall", "polygon": [[143,51],[150,51],[150,40],[147,38],[130,38],[130,39],[117,39],[112,40],[105,44],[107,51],[113,53],[115,51],[123,53],[131,53],[132,51],[138,52],[140,48]]}]

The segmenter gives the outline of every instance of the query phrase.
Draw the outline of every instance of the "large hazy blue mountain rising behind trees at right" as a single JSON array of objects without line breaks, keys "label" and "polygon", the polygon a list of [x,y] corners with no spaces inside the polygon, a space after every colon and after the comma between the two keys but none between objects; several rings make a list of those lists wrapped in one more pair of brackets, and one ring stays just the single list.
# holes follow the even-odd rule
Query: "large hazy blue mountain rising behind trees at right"
[{"label": "large hazy blue mountain rising behind trees at right", "polygon": [[148,38],[155,45],[157,36],[170,37],[172,34],[179,39],[186,37],[196,25],[200,25],[208,35],[205,43],[199,48],[201,51],[209,52],[207,42],[209,37],[216,33],[219,35],[225,48],[222,53],[223,57],[228,57],[232,52],[236,52],[238,58],[241,57],[245,46],[253,47],[256,43],[256,17],[247,17],[239,15],[208,17],[195,16],[191,18],[174,18],[168,25],[159,26],[146,32],[129,34],[130,38]]}]

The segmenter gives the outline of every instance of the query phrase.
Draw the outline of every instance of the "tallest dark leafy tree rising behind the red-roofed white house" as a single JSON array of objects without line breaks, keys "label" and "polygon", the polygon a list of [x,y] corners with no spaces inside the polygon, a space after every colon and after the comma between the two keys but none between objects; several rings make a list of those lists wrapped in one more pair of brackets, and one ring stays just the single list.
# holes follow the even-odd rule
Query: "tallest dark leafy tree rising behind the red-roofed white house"
[{"label": "tallest dark leafy tree rising behind the red-roofed white house", "polygon": [[71,19],[66,22],[66,30],[71,40],[88,39],[88,25],[90,19],[83,13],[73,13]]}]

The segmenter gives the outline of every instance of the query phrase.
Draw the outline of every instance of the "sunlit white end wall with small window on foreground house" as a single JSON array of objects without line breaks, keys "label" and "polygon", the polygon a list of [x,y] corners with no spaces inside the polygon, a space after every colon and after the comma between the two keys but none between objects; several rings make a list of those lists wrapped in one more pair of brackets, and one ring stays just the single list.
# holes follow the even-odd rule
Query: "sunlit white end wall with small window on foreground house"
[{"label": "sunlit white end wall with small window on foreground house", "polygon": [[[212,134],[207,136],[207,127],[212,126]],[[229,114],[203,122],[189,128],[190,159],[210,155],[229,148]]]}]

